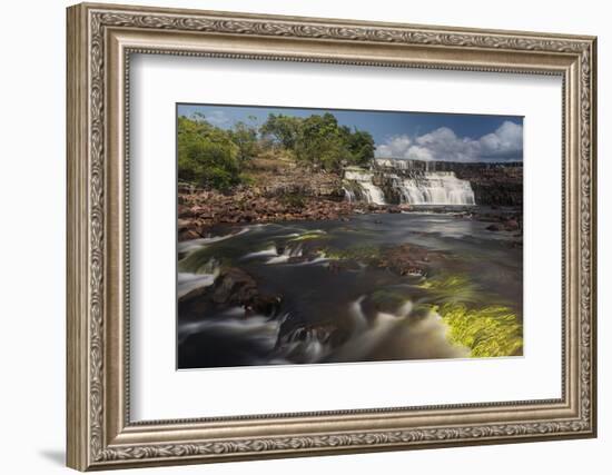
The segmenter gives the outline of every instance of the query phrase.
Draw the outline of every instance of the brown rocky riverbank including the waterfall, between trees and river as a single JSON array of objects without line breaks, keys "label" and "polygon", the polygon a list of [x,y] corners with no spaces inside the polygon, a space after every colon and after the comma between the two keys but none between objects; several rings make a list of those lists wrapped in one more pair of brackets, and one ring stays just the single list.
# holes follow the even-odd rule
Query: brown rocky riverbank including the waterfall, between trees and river
[{"label": "brown rocky riverbank including the waterfall, between trees and river", "polygon": [[[436,162],[431,167],[444,169],[428,171],[413,169],[423,162],[386,165],[330,172],[294,160],[258,158],[249,164],[245,182],[225,192],[180,184],[178,239],[208,237],[218,225],[346,220],[369,212],[422,210],[464,212],[491,222],[493,232],[522,229],[520,166]],[[491,209],[483,212],[474,205]]]}]

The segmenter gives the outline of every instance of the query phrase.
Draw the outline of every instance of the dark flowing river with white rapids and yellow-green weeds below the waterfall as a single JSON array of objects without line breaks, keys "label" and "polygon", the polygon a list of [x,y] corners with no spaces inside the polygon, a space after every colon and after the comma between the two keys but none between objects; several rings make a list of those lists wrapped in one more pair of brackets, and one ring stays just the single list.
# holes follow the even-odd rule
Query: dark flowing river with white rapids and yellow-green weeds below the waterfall
[{"label": "dark flowing river with white rapids and yellow-green weeds below the waterfall", "polygon": [[[519,355],[522,249],[487,225],[466,212],[366,214],[180,243],[178,367]],[[422,265],[398,271],[402,246]],[[228,268],[274,305],[210,297]],[[198,297],[185,306],[187,295]]]}]

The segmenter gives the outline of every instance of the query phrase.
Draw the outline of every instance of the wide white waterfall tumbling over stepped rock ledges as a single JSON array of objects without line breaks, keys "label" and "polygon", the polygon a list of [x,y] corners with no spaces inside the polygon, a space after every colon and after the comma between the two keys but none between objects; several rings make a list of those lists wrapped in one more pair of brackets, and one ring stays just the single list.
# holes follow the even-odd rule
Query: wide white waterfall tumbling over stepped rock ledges
[{"label": "wide white waterfall tumbling over stepped rock ledges", "polygon": [[344,171],[344,191],[351,202],[475,205],[468,180],[418,160],[376,159],[372,170],[349,167]]}]

